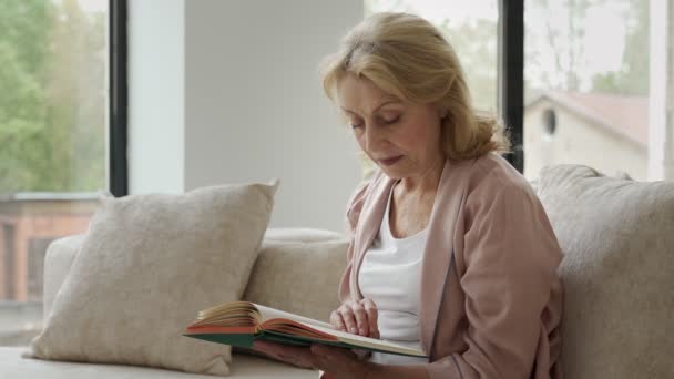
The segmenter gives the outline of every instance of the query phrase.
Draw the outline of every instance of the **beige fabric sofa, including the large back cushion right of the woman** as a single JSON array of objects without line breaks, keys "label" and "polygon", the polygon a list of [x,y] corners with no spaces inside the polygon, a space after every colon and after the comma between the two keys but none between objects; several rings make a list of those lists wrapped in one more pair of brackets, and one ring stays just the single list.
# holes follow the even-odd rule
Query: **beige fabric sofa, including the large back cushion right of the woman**
[{"label": "beige fabric sofa, including the large back cushion right of the woman", "polygon": [[[545,168],[532,183],[564,252],[562,369],[566,378],[674,378],[674,183],[635,182],[591,167]],[[83,236],[53,242],[44,268],[44,314]],[[326,319],[348,238],[269,228],[244,299]],[[0,378],[212,378],[154,368],[22,358],[0,348]],[[316,378],[317,372],[234,350],[234,378]]]}]

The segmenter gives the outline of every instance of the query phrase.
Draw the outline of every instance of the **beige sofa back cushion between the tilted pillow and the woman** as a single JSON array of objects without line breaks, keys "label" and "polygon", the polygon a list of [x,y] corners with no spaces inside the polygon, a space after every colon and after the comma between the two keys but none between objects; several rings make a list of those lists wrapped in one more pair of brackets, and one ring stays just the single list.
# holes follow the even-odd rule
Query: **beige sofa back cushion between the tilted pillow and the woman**
[{"label": "beige sofa back cushion between the tilted pillow and the woman", "polygon": [[313,234],[302,243],[267,232],[244,294],[248,301],[327,321],[339,306],[337,288],[346,267],[348,239]]}]

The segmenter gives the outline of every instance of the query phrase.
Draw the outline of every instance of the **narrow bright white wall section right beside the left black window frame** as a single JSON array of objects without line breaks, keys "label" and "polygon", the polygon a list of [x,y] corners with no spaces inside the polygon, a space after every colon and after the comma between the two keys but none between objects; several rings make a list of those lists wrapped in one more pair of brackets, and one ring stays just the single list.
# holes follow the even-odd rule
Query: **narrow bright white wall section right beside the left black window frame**
[{"label": "narrow bright white wall section right beside the left black window frame", "polygon": [[129,1],[129,192],[184,191],[184,0]]}]

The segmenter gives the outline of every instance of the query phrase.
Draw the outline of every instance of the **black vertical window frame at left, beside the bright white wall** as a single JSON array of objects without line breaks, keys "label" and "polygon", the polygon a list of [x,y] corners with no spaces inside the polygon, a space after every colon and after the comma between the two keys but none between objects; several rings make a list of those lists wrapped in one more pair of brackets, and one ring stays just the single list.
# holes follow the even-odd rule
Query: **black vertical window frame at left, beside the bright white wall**
[{"label": "black vertical window frame at left, beside the bright white wall", "polygon": [[109,0],[108,8],[110,32],[109,183],[110,192],[116,197],[129,194],[129,164],[126,160],[129,107],[126,6],[126,0]]}]

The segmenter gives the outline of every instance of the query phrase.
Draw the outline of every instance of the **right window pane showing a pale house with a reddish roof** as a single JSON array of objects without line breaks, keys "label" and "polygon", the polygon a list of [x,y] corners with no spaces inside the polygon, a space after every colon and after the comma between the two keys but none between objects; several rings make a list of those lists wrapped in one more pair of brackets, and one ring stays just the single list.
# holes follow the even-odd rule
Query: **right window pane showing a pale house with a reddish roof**
[{"label": "right window pane showing a pale house with a reddish roof", "polygon": [[649,3],[527,1],[529,178],[543,166],[560,163],[647,178]]}]

